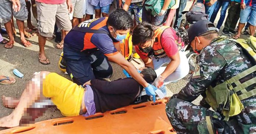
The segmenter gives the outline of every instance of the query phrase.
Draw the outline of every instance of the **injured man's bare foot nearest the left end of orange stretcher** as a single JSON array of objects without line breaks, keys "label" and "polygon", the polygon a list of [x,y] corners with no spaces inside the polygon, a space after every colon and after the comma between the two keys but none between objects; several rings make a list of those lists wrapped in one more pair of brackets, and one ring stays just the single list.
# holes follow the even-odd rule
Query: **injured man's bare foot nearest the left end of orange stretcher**
[{"label": "injured man's bare foot nearest the left end of orange stretcher", "polygon": [[0,119],[0,127],[17,127],[19,126],[19,119],[15,119],[14,114],[4,116]]}]

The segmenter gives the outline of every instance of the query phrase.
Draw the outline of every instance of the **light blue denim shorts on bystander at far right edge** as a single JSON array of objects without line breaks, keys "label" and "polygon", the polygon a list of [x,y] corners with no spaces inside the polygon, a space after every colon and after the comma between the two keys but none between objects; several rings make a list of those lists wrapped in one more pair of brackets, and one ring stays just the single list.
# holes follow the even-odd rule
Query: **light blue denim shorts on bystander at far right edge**
[{"label": "light blue denim shorts on bystander at far right edge", "polygon": [[256,6],[246,6],[244,10],[241,9],[239,23],[246,22],[249,22],[252,26],[256,26]]}]

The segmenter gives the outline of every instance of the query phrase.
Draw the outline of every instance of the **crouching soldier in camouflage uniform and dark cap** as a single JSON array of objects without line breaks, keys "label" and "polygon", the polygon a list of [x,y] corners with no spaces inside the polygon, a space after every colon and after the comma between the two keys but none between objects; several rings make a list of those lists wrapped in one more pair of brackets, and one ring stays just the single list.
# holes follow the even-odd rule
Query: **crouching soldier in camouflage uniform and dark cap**
[{"label": "crouching soldier in camouflage uniform and dark cap", "polygon": [[[208,134],[206,116],[210,116],[211,122],[220,121],[228,134],[256,134],[256,95],[242,100],[244,109],[228,121],[223,121],[221,112],[209,110],[210,106],[204,99],[207,87],[223,83],[255,63],[233,41],[218,36],[209,21],[193,24],[188,36],[189,44],[199,54],[195,72],[188,84],[166,105],[168,119],[177,134]],[[256,71],[242,81],[248,77],[256,77]],[[256,84],[251,88],[255,87]],[[203,96],[200,106],[192,104],[199,95]]]}]

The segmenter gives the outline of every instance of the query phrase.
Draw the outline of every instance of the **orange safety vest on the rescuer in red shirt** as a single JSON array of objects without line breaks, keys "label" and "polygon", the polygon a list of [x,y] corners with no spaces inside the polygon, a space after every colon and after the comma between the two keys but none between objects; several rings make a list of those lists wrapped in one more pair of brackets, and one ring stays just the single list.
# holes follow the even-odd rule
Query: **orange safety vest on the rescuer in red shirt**
[{"label": "orange safety vest on the rescuer in red shirt", "polygon": [[[154,31],[155,41],[154,41],[154,44],[153,44],[153,47],[152,47],[153,52],[151,54],[150,53],[146,54],[146,53],[141,51],[143,55],[154,56],[154,57],[157,57],[157,58],[162,58],[162,57],[167,56],[166,52],[164,51],[164,48],[162,47],[162,44],[161,44],[162,34],[167,28],[171,28],[171,27],[170,26],[161,26],[161,27],[157,28]],[[180,38],[178,38],[177,35],[175,35],[175,42],[177,44],[178,50],[181,50],[181,48],[184,47],[184,43],[181,41]],[[137,45],[136,45],[136,47],[140,51],[140,49]]]}]

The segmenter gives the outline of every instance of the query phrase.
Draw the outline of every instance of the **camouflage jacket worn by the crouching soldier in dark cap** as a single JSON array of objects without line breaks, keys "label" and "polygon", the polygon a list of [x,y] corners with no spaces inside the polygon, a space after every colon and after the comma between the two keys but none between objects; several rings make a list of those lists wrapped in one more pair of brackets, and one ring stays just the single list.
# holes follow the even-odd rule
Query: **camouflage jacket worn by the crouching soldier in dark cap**
[{"label": "camouflage jacket worn by the crouching soldier in dark cap", "polygon": [[[224,37],[217,37],[200,52],[192,78],[174,98],[192,102],[199,95],[204,97],[207,87],[215,87],[252,66],[253,63],[249,57],[243,53],[242,48],[238,47],[235,42],[226,40]],[[245,82],[251,77],[256,77],[256,71],[244,77],[241,81]],[[256,84],[252,86],[253,89]],[[245,108],[236,118],[243,124],[255,124],[256,95],[241,102]]]}]

